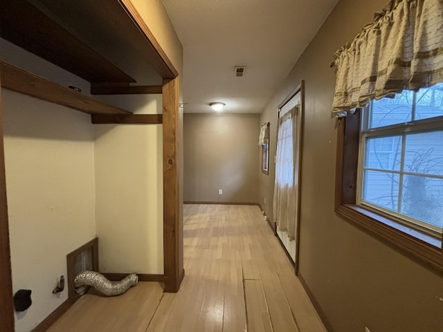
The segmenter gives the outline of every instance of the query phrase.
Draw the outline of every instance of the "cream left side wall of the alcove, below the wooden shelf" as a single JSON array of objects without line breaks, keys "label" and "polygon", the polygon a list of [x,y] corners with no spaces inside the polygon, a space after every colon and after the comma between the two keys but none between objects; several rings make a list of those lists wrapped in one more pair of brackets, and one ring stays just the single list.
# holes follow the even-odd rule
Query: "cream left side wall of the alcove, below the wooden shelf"
[{"label": "cream left side wall of the alcove, below the wooden shelf", "polygon": [[2,89],[13,292],[33,291],[17,332],[44,320],[68,293],[66,255],[96,237],[89,116]]}]

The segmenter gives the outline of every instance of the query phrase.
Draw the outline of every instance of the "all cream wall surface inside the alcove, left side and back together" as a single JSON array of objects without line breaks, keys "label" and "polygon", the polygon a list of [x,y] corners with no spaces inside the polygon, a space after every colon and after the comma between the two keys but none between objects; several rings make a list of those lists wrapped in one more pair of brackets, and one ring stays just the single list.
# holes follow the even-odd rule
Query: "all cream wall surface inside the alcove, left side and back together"
[{"label": "all cream wall surface inside the alcove, left side and back together", "polygon": [[[0,47],[2,61],[89,93],[79,77],[3,39]],[[31,331],[67,299],[67,287],[52,293],[66,278],[66,255],[96,236],[102,271],[163,274],[161,124],[93,126],[87,114],[1,93],[13,291],[33,291],[16,331]],[[101,99],[161,113],[161,95]]]}]

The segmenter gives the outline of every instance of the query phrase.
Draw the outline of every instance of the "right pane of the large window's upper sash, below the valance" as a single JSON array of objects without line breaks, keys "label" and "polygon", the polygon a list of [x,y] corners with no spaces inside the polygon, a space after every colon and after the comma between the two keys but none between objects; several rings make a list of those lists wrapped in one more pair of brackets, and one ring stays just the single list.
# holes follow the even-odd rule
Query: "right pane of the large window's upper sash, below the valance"
[{"label": "right pane of the large window's upper sash, below the valance", "polygon": [[443,83],[417,91],[415,120],[443,116]]}]

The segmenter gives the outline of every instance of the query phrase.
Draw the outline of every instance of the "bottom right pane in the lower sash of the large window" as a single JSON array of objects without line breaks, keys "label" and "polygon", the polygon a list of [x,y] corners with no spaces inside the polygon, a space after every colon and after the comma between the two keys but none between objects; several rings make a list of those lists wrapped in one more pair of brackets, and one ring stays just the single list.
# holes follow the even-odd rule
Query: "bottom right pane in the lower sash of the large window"
[{"label": "bottom right pane in the lower sash of the large window", "polygon": [[443,180],[424,176],[405,176],[401,213],[442,227]]}]

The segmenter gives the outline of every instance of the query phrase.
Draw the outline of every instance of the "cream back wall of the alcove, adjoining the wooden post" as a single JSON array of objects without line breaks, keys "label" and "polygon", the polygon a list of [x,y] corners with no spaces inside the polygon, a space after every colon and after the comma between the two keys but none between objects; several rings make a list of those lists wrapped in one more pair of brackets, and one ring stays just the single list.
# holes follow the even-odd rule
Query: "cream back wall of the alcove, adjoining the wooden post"
[{"label": "cream back wall of the alcove, adjoining the wooden post", "polygon": [[[135,113],[162,108],[161,95],[102,99]],[[97,124],[95,129],[100,270],[163,274],[161,124]]]}]

